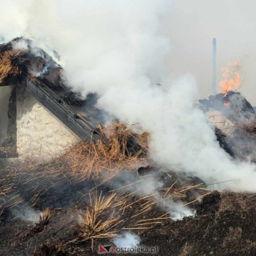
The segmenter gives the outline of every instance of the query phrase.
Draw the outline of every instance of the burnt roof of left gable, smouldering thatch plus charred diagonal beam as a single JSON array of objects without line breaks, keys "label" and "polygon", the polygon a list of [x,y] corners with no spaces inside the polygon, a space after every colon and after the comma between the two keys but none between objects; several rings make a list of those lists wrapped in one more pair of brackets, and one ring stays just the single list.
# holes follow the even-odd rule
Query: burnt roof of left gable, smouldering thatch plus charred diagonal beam
[{"label": "burnt roof of left gable, smouldering thatch plus charred diagonal beam", "polygon": [[[97,140],[100,110],[87,104],[61,79],[62,68],[32,40],[16,38],[0,44],[0,86],[20,84],[82,140]],[[86,113],[87,112],[87,113]]]}]

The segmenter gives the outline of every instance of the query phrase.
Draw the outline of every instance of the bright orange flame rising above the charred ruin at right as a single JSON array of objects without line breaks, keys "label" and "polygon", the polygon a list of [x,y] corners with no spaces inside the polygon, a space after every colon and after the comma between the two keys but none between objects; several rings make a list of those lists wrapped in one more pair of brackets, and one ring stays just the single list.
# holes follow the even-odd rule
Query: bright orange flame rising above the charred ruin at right
[{"label": "bright orange flame rising above the charred ruin at right", "polygon": [[220,82],[221,93],[228,93],[230,90],[236,90],[241,86],[239,69],[241,65],[238,62],[228,64],[228,67],[222,68],[224,80]]}]

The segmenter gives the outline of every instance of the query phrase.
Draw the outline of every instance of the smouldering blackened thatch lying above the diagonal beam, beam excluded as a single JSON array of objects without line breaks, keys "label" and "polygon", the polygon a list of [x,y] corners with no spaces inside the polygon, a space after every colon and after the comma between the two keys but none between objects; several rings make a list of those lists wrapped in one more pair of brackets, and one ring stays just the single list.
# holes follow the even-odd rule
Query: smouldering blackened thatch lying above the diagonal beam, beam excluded
[{"label": "smouldering blackened thatch lying above the diagonal beam, beam excluded", "polygon": [[92,126],[113,118],[96,107],[96,93],[83,98],[79,92],[73,91],[63,76],[63,68],[57,63],[57,59],[37,47],[33,40],[15,38],[9,43],[0,44],[0,86],[24,85],[27,79],[36,82],[36,86],[42,86],[40,83],[43,83],[59,104],[64,105],[65,102],[68,109],[72,109]]}]

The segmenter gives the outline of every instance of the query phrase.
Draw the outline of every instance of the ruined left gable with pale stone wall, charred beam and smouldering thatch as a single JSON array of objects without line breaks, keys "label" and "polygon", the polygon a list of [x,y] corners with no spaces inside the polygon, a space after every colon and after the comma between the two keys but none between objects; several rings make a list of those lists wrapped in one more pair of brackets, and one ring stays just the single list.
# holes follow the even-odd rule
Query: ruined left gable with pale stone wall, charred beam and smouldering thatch
[{"label": "ruined left gable with pale stone wall, charred beam and smouldering thatch", "polygon": [[70,92],[46,52],[17,38],[1,44],[0,55],[2,158],[50,160],[68,144],[97,136],[90,124],[99,114],[94,96],[87,104]]}]

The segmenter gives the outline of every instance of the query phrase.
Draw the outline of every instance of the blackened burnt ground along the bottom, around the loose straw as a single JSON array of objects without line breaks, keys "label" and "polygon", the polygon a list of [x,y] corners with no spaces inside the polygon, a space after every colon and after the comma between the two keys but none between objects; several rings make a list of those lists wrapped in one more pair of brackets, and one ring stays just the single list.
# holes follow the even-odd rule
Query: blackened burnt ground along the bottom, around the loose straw
[{"label": "blackened burnt ground along the bottom, around the loose straw", "polygon": [[[163,174],[161,175],[158,174],[165,180]],[[200,181],[194,177],[178,177],[175,174],[171,177],[170,184],[179,180],[177,187],[184,180],[186,185],[198,184]],[[128,183],[129,179],[134,181],[127,177]],[[98,245],[113,245],[110,238],[94,240],[92,250],[90,241],[79,238],[74,224],[79,221],[79,212],[86,208],[85,191],[90,191],[93,185],[87,184],[85,188],[84,185],[76,184],[71,187],[63,183],[52,190],[48,189],[34,204],[32,209],[43,210],[49,207],[52,212],[49,223],[42,229],[36,229],[32,221],[15,217],[11,209],[4,209],[0,217],[0,255],[32,255],[36,246],[46,242],[53,245],[61,242],[61,251],[59,254],[40,255],[97,255]],[[101,185],[98,189],[107,193],[111,184]],[[128,193],[122,191],[120,196]],[[184,201],[192,201],[198,193],[195,189],[190,189]],[[137,200],[138,196],[135,195],[126,197],[128,204]],[[166,210],[155,206],[133,218],[142,203],[143,201],[134,203],[123,212],[120,230],[127,224],[133,226],[138,220],[158,218],[166,213]],[[141,245],[159,246],[157,255],[256,255],[255,194],[213,191],[201,201],[192,203],[190,207],[196,210],[195,217],[185,217],[180,221],[168,218],[160,224],[148,226],[149,229],[131,231],[141,238]]]}]

